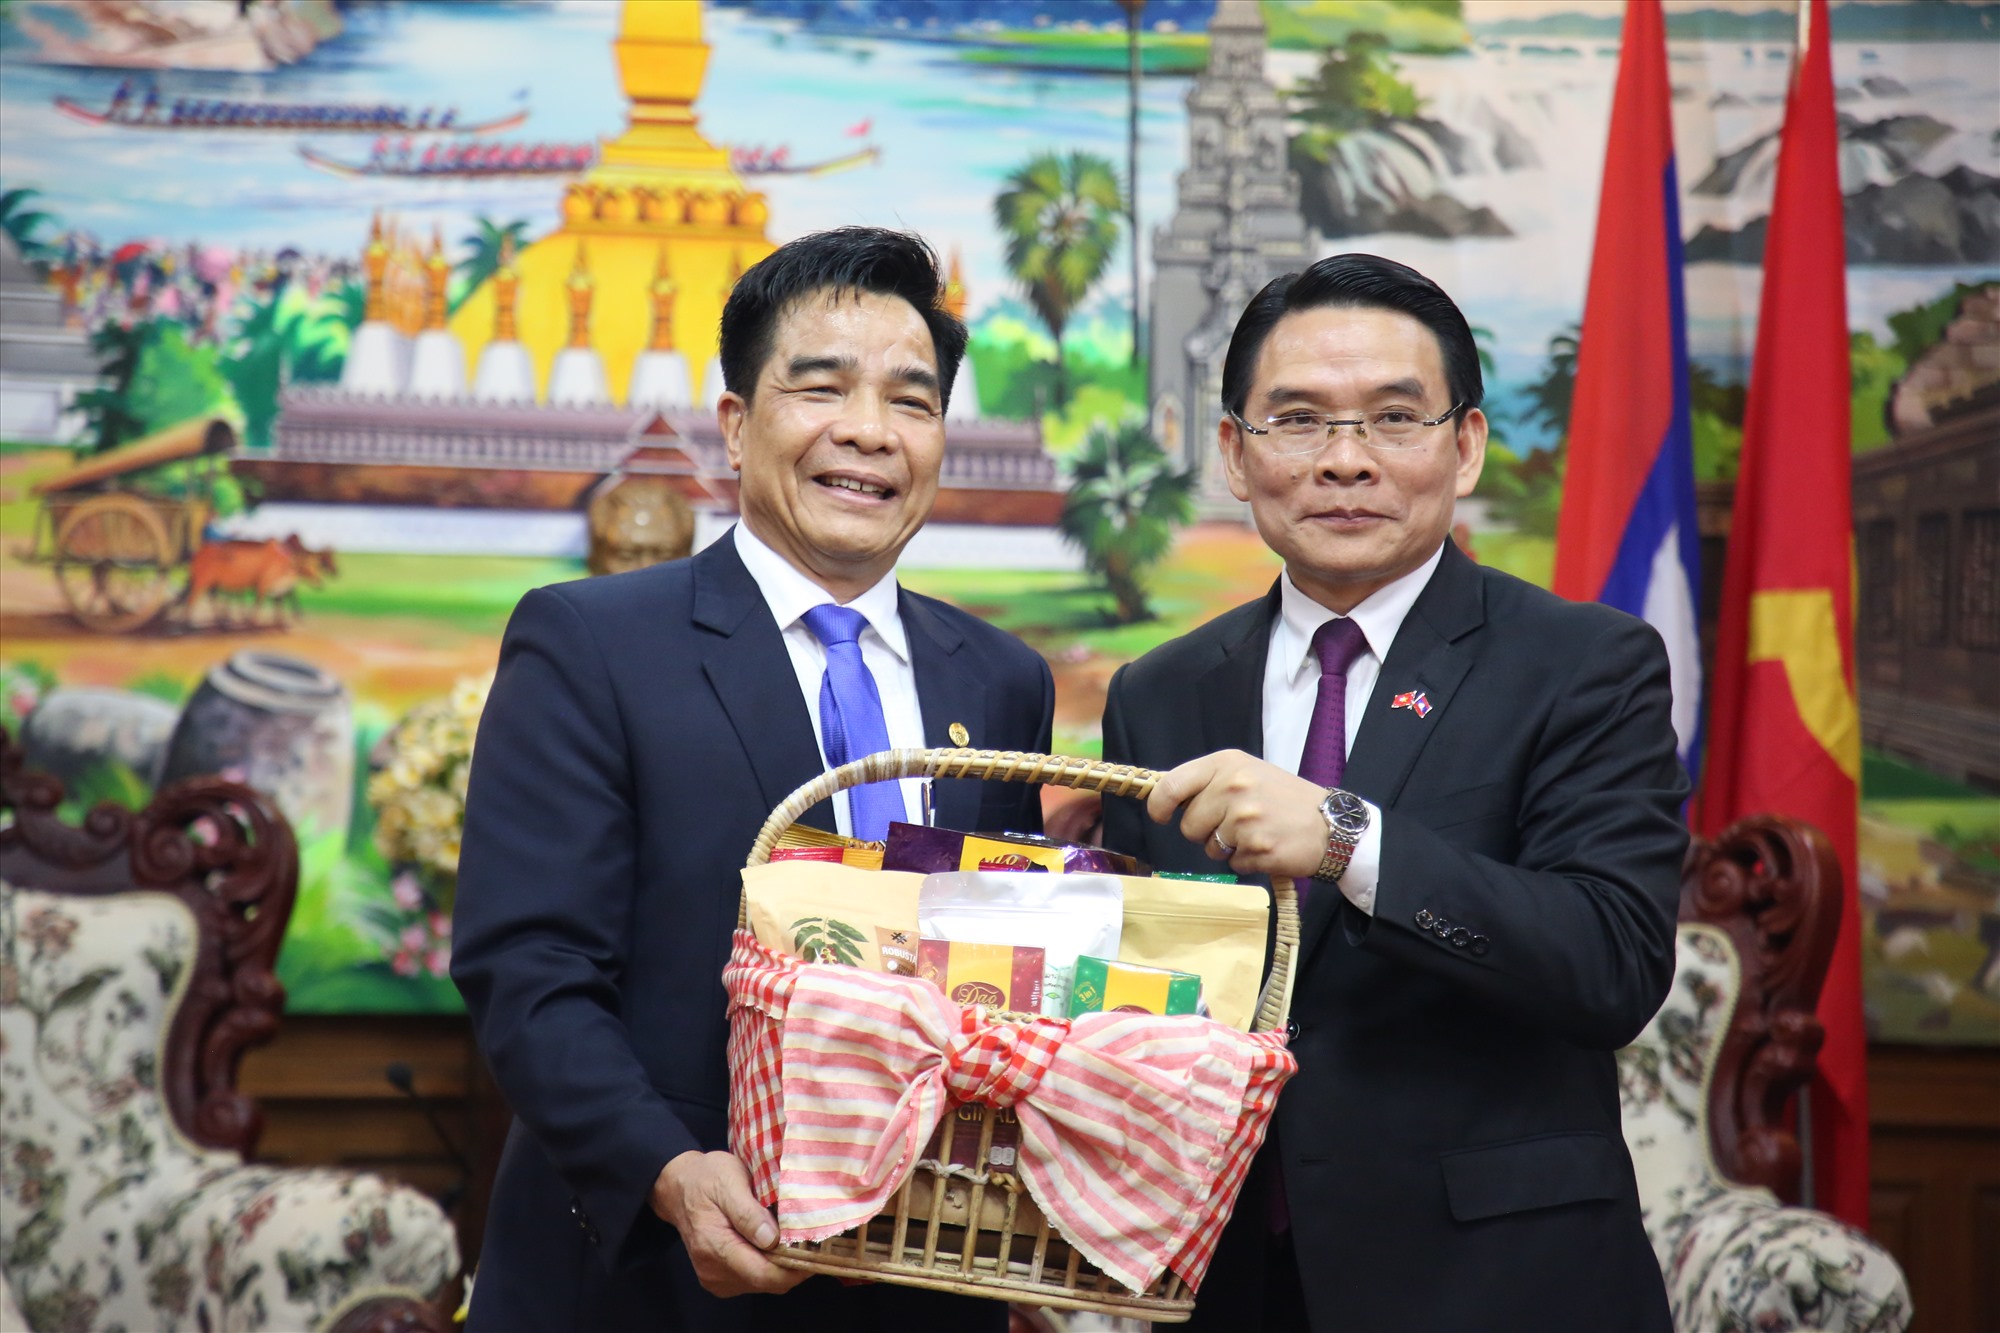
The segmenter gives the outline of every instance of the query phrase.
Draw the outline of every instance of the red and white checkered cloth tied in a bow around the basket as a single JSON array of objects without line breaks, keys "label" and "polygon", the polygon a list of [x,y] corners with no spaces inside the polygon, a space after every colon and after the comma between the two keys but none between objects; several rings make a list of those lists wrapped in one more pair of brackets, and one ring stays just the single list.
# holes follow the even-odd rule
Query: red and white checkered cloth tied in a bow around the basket
[{"label": "red and white checkered cloth tied in a bow around the basket", "polygon": [[1144,1291],[1198,1289],[1278,1089],[1280,1033],[1192,1015],[994,1021],[938,987],[804,965],[736,933],[730,1149],[780,1239],[840,1235],[882,1211],[952,1103],[1014,1107],[1022,1185],[1098,1269]]}]

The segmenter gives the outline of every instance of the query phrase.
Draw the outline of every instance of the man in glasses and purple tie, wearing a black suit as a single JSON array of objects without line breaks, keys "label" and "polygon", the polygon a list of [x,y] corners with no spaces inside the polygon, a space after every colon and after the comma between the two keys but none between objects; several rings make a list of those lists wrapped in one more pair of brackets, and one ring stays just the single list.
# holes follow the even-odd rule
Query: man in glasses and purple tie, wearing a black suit
[{"label": "man in glasses and purple tie, wearing a black suit", "polygon": [[1196,1329],[1670,1327],[1614,1065],[1674,973],[1666,652],[1450,542],[1480,392],[1402,264],[1258,292],[1220,446],[1284,574],[1110,685],[1104,757],[1170,773],[1106,843],[1304,897],[1298,1077]]}]

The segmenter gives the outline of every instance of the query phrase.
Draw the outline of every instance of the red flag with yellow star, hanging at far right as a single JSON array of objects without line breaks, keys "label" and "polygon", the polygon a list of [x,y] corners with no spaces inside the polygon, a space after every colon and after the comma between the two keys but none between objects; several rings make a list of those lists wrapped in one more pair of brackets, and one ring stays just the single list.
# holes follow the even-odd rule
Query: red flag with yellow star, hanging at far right
[{"label": "red flag with yellow star, hanging at far right", "polygon": [[1826,0],[1808,0],[1784,106],[1778,190],[1722,578],[1698,825],[1774,811],[1816,825],[1846,881],[1820,991],[1812,1085],[1814,1203],[1868,1225],[1854,697],[1852,464],[1840,132]]}]

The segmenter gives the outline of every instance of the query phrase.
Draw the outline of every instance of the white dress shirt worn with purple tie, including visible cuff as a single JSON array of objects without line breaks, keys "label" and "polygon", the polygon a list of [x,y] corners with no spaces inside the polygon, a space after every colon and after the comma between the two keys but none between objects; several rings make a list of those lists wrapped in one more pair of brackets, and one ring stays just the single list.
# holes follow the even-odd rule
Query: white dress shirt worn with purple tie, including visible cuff
[{"label": "white dress shirt worn with purple tie, including visible cuff", "polygon": [[[1376,588],[1348,612],[1368,638],[1368,650],[1348,666],[1348,735],[1342,753],[1354,751],[1362,713],[1374,695],[1388,648],[1396,642],[1396,630],[1402,628],[1404,616],[1410,614],[1410,606],[1442,558],[1444,546],[1438,546],[1438,552],[1420,566]],[[1320,701],[1320,658],[1312,650],[1312,634],[1334,618],[1338,612],[1298,590],[1292,570],[1278,576],[1278,614],[1270,622],[1270,652],[1264,658],[1264,759],[1286,773],[1298,773],[1298,761],[1306,753],[1306,731],[1312,729],[1312,711]],[[1340,877],[1340,893],[1374,917],[1374,891],[1382,875],[1382,811],[1372,801],[1362,805],[1368,807],[1368,833],[1354,847],[1354,857]]]}]

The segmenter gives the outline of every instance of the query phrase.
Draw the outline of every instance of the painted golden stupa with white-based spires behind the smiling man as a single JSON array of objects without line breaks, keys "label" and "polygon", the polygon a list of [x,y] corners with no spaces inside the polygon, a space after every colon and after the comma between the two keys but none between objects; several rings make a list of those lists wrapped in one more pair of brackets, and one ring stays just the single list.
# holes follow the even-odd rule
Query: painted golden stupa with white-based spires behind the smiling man
[{"label": "painted golden stupa with white-based spires behind the smiling man", "polygon": [[[768,206],[696,128],[708,46],[698,4],[634,0],[614,40],[632,98],[624,134],[562,200],[562,224],[448,310],[442,238],[378,216],[362,254],[366,314],[340,384],[280,392],[272,448],[232,468],[266,502],[576,510],[610,476],[662,478],[726,522],[736,476],[716,422],[716,326],[770,254]],[[946,302],[962,312],[952,254]],[[962,364],[940,522],[1048,526],[1062,508],[1038,422],[972,420]]]}]

